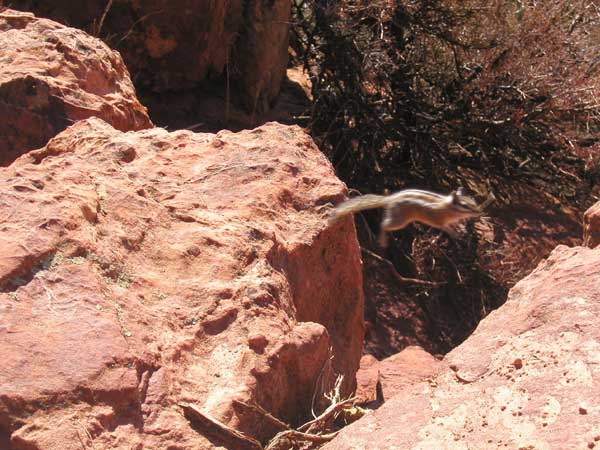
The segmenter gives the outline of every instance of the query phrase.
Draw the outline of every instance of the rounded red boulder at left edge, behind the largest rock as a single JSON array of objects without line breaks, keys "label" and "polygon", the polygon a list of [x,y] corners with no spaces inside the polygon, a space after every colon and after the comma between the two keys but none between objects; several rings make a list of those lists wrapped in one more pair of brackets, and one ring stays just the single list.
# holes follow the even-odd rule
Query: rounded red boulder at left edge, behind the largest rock
[{"label": "rounded red boulder at left edge, behind the largest rock", "polygon": [[83,31],[0,12],[0,165],[91,116],[122,131],[152,126],[119,54]]}]

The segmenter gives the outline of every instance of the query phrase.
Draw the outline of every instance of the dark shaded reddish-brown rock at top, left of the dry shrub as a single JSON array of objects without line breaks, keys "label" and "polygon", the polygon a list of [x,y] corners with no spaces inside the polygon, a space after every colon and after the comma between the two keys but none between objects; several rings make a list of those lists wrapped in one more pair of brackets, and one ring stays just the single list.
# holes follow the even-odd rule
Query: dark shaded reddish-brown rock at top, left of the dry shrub
[{"label": "dark shaded reddish-brown rock at top, left of the dry shrub", "polygon": [[[125,59],[138,86],[182,91],[219,79],[231,99],[263,112],[288,61],[290,0],[13,0],[104,39]],[[107,5],[110,7],[107,9]]]}]

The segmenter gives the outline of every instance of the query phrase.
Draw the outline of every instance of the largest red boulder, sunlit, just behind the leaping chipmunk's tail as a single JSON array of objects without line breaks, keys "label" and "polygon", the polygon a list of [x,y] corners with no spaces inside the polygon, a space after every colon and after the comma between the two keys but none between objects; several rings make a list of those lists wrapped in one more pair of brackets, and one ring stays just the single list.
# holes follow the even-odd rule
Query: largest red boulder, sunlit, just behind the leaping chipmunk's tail
[{"label": "largest red boulder, sunlit, just behind the leaping chipmunk's tail", "polygon": [[86,119],[0,168],[0,448],[241,449],[180,404],[266,440],[253,402],[293,423],[336,372],[349,393],[360,255],[323,206],[344,193],[278,124]]}]

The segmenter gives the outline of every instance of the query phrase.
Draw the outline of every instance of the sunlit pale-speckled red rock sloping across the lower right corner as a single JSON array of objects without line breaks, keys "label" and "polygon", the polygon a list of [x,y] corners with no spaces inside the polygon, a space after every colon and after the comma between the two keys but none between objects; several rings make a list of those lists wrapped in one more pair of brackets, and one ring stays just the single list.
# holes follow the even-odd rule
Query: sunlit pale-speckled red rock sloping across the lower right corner
[{"label": "sunlit pale-speckled red rock sloping across the lower right corner", "polygon": [[600,447],[600,250],[557,247],[435,380],[408,387],[324,449]]}]

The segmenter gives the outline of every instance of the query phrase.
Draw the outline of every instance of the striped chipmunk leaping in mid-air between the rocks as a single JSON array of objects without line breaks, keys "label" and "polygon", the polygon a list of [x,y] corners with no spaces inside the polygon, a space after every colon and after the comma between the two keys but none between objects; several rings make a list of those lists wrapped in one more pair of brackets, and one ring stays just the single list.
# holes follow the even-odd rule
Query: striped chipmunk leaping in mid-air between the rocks
[{"label": "striped chipmunk leaping in mid-air between the rocks", "polygon": [[439,228],[455,237],[456,231],[451,225],[482,215],[483,207],[489,200],[478,205],[463,188],[458,188],[449,195],[418,189],[406,189],[387,196],[367,194],[338,205],[331,212],[329,222],[334,223],[340,217],[365,209],[384,208],[379,245],[386,247],[388,231],[401,230],[412,222]]}]

